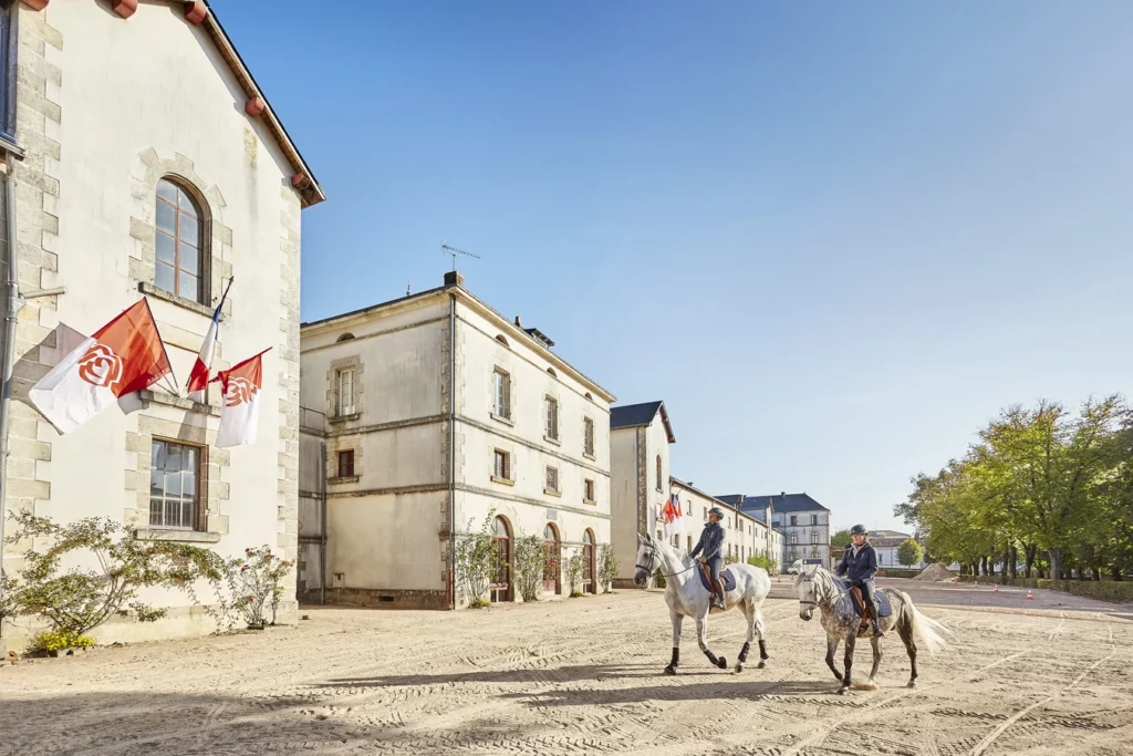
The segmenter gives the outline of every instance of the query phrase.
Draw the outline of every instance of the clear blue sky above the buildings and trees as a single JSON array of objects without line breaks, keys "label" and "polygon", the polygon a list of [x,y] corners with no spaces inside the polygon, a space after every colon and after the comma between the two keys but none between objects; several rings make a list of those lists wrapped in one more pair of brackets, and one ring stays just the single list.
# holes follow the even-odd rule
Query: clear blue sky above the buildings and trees
[{"label": "clear blue sky above the buildings and trees", "polygon": [[306,320],[474,250],[698,487],[898,526],[1000,407],[1131,392],[1133,3],[213,6],[330,197]]}]

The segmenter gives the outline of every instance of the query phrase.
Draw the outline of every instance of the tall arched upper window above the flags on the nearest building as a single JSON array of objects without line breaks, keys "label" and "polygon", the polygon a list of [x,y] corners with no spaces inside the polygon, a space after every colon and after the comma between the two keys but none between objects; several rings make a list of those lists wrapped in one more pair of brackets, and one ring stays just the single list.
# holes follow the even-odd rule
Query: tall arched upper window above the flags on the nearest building
[{"label": "tall arched upper window above the flags on the nearest building", "polygon": [[154,284],[159,289],[207,304],[204,236],[204,214],[188,189],[169,178],[157,181]]}]

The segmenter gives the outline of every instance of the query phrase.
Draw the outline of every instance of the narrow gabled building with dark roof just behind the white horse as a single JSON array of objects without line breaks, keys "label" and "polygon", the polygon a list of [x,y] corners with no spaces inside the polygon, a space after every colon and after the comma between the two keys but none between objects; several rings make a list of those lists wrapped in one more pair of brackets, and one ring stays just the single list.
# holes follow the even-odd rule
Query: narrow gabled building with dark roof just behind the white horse
[{"label": "narrow gabled building with dark roof just behind the white horse", "polygon": [[668,500],[668,445],[676,443],[663,401],[610,410],[612,543],[617,587],[633,587],[639,533],[656,533]]}]

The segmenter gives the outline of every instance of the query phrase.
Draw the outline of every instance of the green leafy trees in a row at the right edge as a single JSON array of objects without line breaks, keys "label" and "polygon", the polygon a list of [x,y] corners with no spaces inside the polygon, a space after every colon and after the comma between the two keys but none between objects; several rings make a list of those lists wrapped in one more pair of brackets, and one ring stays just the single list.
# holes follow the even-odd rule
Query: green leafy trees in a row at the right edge
[{"label": "green leafy trees in a row at the right edge", "polygon": [[[895,515],[934,561],[972,575],[1114,580],[1133,575],[1133,414],[1121,394],[1012,406],[966,453],[912,478]],[[1022,555],[1022,559],[1020,559]]]}]

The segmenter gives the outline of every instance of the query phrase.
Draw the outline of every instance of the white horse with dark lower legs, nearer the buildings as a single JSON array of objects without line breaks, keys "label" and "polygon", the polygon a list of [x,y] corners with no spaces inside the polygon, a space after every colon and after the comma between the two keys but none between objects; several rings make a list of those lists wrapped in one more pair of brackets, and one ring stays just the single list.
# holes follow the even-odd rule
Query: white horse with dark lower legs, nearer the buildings
[{"label": "white horse with dark lower legs, nearer the buildings", "polygon": [[[712,592],[704,587],[697,576],[699,564],[664,541],[638,534],[637,571],[633,574],[633,583],[645,585],[657,567],[661,567],[661,574],[665,577],[665,603],[668,604],[668,615],[673,620],[673,661],[665,668],[665,674],[676,674],[676,665],[681,660],[681,622],[685,617],[697,621],[697,643],[708,661],[722,670],[727,669],[727,661],[723,656],[717,659],[708,647],[708,610]],[[729,564],[727,569],[735,576],[735,588],[725,595],[726,609],[713,611],[726,612],[733,606],[740,608],[748,620],[748,640],[740,649],[740,661],[735,664],[735,671],[743,670],[753,638],[759,639],[758,669],[763,669],[768,656],[760,609],[767,594],[770,593],[772,579],[767,577],[766,570],[750,564],[733,563]]]}]

